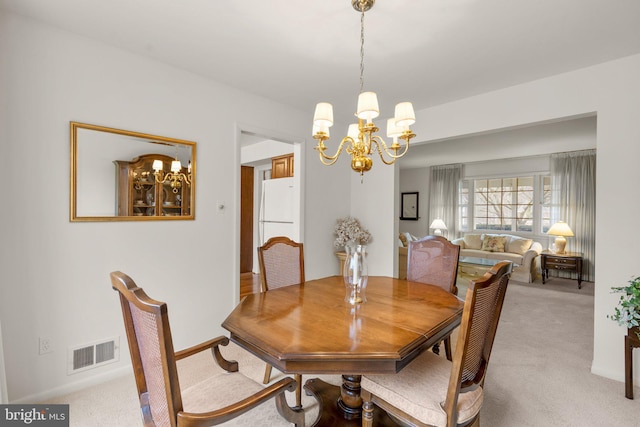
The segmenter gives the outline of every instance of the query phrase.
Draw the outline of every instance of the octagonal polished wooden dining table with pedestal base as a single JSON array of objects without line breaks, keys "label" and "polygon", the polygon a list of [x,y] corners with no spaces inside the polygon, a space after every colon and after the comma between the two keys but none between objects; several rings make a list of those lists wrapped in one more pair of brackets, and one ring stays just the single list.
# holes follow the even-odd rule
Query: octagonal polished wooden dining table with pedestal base
[{"label": "octagonal polished wooden dining table with pedestal base", "polygon": [[307,380],[322,409],[314,425],[359,425],[362,374],[399,372],[460,324],[464,305],[438,286],[382,276],[368,278],[365,295],[351,305],[342,276],[309,280],[248,295],[222,326],[286,374],[341,374],[342,387]]}]

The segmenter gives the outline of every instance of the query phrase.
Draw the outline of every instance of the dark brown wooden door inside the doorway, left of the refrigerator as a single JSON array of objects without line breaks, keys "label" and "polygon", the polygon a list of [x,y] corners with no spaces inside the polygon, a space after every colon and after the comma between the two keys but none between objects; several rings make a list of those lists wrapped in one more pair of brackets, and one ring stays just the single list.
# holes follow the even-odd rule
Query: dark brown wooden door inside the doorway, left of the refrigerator
[{"label": "dark brown wooden door inside the doorway, left of the refrigerator", "polygon": [[240,273],[253,270],[253,167],[240,167]]}]

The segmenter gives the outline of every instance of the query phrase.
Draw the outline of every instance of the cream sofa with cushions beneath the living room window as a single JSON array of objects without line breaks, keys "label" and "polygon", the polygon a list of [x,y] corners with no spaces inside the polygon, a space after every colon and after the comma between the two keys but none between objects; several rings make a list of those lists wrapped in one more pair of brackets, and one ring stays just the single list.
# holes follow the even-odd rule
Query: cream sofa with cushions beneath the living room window
[{"label": "cream sofa with cushions beneath the living room window", "polygon": [[511,278],[519,282],[531,283],[538,275],[538,255],[542,245],[532,239],[511,234],[465,234],[452,240],[460,246],[460,257],[486,258],[512,261],[517,265]]}]

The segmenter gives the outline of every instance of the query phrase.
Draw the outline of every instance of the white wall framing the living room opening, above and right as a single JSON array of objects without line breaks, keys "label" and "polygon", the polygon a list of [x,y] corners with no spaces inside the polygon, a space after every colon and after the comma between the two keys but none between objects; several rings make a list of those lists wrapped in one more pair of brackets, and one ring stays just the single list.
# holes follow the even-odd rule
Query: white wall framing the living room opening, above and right
[{"label": "white wall framing the living room opening, above and right", "polygon": [[[611,286],[638,275],[640,199],[624,188],[640,184],[640,55],[417,112],[415,133],[425,141],[597,114],[597,221],[592,372],[624,378],[623,335],[606,318],[617,297]],[[622,233],[625,238],[619,236]],[[636,366],[640,356],[636,352]],[[636,369],[636,373],[638,369]],[[636,374],[637,376],[637,374]]]}]

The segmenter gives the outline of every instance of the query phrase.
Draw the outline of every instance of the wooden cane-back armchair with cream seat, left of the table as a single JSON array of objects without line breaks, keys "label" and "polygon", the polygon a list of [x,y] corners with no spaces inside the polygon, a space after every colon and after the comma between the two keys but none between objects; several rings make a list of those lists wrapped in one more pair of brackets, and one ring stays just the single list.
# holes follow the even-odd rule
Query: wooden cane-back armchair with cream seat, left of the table
[{"label": "wooden cane-back armchair with cream seat, left of the table", "polygon": [[[151,299],[119,271],[111,273],[111,284],[120,294],[144,426],[212,426],[253,410],[270,423],[304,426],[304,412],[289,407],[284,394],[296,389],[295,380],[286,377],[263,387],[245,377],[238,372],[237,362],[222,356],[220,346],[229,343],[224,336],[174,353],[167,304]],[[204,350],[211,350],[227,372],[205,375],[203,381],[180,390],[176,361]],[[273,407],[261,405],[270,399],[275,399],[281,417]]]}]

